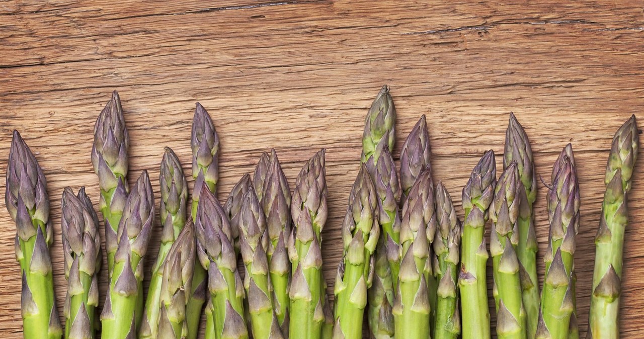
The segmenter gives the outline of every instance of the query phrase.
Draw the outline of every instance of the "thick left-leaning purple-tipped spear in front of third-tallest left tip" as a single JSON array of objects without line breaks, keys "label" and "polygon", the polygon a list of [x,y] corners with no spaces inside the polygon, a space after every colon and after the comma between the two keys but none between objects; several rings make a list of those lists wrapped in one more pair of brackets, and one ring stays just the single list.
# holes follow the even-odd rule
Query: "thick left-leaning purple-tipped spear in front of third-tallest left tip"
[{"label": "thick left-leaning purple-tipped spear in front of third-tallest left tip", "polygon": [[194,229],[197,255],[208,273],[210,315],[206,320],[206,339],[248,338],[243,318],[244,290],[237,271],[228,217],[217,198],[202,188]]}]

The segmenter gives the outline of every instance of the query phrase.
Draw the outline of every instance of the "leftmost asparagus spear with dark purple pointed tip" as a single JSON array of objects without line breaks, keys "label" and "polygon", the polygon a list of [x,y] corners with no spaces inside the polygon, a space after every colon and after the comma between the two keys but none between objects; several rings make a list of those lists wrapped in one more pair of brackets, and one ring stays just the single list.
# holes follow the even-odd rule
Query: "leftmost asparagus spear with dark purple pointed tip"
[{"label": "leftmost asparagus spear with dark purple pointed tip", "polygon": [[24,338],[61,338],[49,254],[53,230],[47,182],[32,151],[15,130],[6,166],[5,205],[15,223],[15,258],[23,276]]}]

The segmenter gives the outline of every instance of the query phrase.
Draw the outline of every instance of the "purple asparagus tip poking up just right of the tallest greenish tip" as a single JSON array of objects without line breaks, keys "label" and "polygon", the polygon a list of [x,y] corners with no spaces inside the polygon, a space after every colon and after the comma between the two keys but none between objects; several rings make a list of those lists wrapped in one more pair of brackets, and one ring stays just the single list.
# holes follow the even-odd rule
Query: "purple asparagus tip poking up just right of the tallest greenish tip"
[{"label": "purple asparagus tip poking up just right of the tallest greenish tip", "polygon": [[427,122],[425,115],[413,127],[403,143],[401,151],[401,205],[407,200],[407,194],[412,189],[416,178],[421,174],[421,170],[430,165],[431,147],[430,136],[427,133]]}]

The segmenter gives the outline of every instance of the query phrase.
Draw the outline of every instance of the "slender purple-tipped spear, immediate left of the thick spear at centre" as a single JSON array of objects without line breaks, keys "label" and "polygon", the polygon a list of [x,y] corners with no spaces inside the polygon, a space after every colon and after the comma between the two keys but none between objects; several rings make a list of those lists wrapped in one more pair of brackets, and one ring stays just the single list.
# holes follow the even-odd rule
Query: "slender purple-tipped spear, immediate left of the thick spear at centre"
[{"label": "slender purple-tipped spear, immediate left of the thick spear at centre", "polygon": [[274,309],[279,327],[283,333],[287,333],[289,331],[291,270],[287,241],[291,232],[291,196],[289,182],[279,165],[279,159],[274,149],[270,151],[270,160],[262,191],[261,205],[266,217],[270,241],[266,253],[269,260],[270,281],[273,284]]}]

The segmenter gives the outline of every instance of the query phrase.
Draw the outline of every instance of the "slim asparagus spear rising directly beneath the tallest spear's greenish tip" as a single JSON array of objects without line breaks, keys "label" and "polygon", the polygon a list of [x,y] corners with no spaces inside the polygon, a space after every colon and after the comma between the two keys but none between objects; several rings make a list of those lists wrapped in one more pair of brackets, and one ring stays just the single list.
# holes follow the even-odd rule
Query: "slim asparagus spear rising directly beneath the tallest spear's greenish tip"
[{"label": "slim asparagus spear rising directly beneath the tallest spear's greenish tip", "polygon": [[381,232],[375,251],[374,283],[368,291],[368,320],[372,336],[387,339],[394,336],[392,305],[398,285],[400,260],[396,254],[390,262],[386,250],[388,243],[392,243],[392,248],[399,247],[400,217],[397,199],[400,196],[400,186],[392,154],[384,142],[378,145],[374,156],[367,160],[366,167],[375,184]]}]

